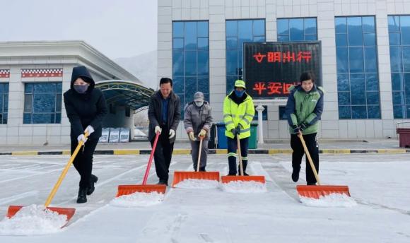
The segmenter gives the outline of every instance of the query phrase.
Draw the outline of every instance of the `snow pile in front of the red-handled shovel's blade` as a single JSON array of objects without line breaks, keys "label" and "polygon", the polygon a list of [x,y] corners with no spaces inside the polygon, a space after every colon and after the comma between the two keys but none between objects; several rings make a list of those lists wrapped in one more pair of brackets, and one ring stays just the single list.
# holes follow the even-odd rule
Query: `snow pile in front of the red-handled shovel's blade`
[{"label": "snow pile in front of the red-handled shovel's blade", "polygon": [[156,191],[151,193],[136,192],[134,194],[119,196],[112,199],[110,205],[119,207],[144,207],[152,206],[164,201],[164,194]]}]

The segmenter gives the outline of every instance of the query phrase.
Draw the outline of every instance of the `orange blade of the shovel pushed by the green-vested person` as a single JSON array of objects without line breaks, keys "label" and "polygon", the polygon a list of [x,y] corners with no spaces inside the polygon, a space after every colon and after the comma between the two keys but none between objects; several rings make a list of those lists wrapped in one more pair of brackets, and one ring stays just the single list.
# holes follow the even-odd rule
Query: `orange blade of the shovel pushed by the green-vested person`
[{"label": "orange blade of the shovel pushed by the green-vested person", "polygon": [[299,196],[319,199],[329,194],[345,194],[350,196],[348,186],[296,186]]}]

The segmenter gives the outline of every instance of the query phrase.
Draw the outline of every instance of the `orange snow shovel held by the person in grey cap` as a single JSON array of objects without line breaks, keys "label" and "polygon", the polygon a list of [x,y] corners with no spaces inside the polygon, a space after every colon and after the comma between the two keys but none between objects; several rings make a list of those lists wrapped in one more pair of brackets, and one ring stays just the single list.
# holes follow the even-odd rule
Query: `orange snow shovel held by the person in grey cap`
[{"label": "orange snow shovel held by the person in grey cap", "polygon": [[174,181],[172,182],[172,187],[175,187],[176,184],[182,182],[185,179],[206,179],[210,181],[219,182],[219,172],[200,172],[199,164],[201,164],[201,150],[202,150],[202,141],[203,137],[200,137],[199,140],[199,155],[197,160],[197,171],[196,172],[185,172],[185,171],[176,171],[174,172]]}]

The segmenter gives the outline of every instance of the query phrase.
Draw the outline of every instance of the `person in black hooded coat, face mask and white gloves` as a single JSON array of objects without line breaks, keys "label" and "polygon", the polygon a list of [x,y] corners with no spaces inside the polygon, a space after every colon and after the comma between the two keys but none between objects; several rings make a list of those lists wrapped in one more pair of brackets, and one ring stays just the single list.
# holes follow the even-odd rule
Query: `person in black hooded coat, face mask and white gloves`
[{"label": "person in black hooded coat, face mask and white gloves", "polygon": [[[98,177],[93,170],[93,153],[102,133],[102,119],[107,114],[107,105],[101,90],[94,88],[95,82],[85,66],[76,66],[71,75],[70,89],[64,93],[64,105],[71,123],[71,155],[79,141],[84,147],[78,152],[74,167],[80,174],[77,203],[86,203],[93,193]],[[84,136],[88,131],[88,138]]]}]

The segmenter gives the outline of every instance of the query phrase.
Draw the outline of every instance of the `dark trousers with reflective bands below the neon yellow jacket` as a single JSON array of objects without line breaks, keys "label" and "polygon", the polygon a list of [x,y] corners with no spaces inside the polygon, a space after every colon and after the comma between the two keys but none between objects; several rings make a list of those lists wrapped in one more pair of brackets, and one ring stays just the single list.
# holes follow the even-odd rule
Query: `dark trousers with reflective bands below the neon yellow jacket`
[{"label": "dark trousers with reflective bands below the neon yellow jacket", "polygon": [[[229,174],[236,174],[236,150],[238,149],[238,141],[236,141],[236,136],[234,138],[228,139],[228,163],[229,163]],[[240,154],[242,156],[243,172],[246,172],[247,167],[247,148],[248,148],[248,138],[242,138],[239,140],[240,143]],[[240,174],[240,167],[238,165],[238,174]]]}]

